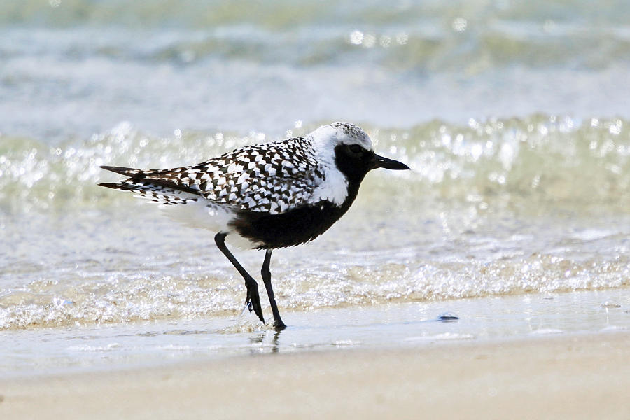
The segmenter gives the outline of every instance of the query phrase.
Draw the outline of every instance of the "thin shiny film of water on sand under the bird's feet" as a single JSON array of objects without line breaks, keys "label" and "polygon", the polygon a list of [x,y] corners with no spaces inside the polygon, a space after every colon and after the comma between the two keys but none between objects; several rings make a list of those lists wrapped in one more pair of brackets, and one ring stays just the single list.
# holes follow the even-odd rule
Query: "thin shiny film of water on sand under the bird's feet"
[{"label": "thin shiny film of water on sand under the bird's feet", "polygon": [[281,332],[262,327],[246,313],[239,318],[4,331],[0,378],[269,353],[615,332],[630,328],[630,291],[318,309],[284,318],[289,326]]}]

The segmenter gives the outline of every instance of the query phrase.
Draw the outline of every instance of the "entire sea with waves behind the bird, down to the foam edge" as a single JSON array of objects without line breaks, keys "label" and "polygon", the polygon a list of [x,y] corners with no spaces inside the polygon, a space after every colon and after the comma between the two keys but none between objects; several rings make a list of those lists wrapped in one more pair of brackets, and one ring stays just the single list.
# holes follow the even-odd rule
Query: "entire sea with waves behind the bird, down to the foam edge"
[{"label": "entire sea with waves behind the bird, down to the foam edge", "polygon": [[[274,252],[283,313],[627,305],[629,21],[622,1],[2,1],[0,330],[239,316],[213,234],[99,188],[118,177],[98,167],[335,120],[412,171],[368,174],[323,237]],[[258,274],[263,253],[236,255]]]}]

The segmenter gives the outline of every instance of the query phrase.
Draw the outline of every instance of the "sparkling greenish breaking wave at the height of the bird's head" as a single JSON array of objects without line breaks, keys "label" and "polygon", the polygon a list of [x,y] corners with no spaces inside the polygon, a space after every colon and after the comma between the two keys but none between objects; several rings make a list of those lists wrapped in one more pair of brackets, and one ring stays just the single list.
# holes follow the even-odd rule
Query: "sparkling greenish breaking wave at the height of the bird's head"
[{"label": "sparkling greenish breaking wave at the height of the bird's head", "polygon": [[[379,153],[407,162],[412,172],[370,175],[363,194],[379,200],[387,186],[409,203],[449,200],[576,205],[588,211],[630,206],[630,130],[621,119],[561,116],[440,121],[409,130],[365,126]],[[287,134],[301,135],[313,127]],[[272,140],[265,133],[181,132],[152,137],[121,123],[87,140],[50,146],[0,137],[0,209],[101,207],[123,200],[97,188],[110,179],[99,165],[191,165],[232,148]],[[387,176],[386,176],[387,175]],[[109,178],[108,178],[109,177]],[[419,200],[419,197],[422,197]]]}]

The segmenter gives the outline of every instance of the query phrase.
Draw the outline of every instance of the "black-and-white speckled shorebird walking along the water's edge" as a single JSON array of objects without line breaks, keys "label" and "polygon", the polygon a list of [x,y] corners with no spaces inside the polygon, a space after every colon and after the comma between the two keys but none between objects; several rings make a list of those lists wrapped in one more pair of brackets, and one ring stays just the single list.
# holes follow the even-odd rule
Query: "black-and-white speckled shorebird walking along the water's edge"
[{"label": "black-and-white speckled shorebird walking along the water's edge", "polygon": [[99,186],[159,204],[176,221],[216,232],[214,241],[243,277],[245,308],[265,323],[258,283],[226,245],[265,251],[260,271],[274,317],[280,316],[269,265],[272,251],[309,242],[341,218],[372,169],[409,169],[374,153],[351,123],[322,125],[304,137],[237,148],[197,165],[171,169],[102,166],[127,178]]}]

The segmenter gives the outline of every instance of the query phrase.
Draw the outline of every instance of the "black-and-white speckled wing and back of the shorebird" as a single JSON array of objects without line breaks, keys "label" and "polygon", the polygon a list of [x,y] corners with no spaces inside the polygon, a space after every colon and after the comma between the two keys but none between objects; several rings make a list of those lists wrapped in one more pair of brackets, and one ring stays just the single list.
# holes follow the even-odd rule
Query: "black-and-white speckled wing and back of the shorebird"
[{"label": "black-and-white speckled wing and back of the shorebird", "polygon": [[142,179],[198,192],[217,204],[280,214],[308,202],[323,178],[307,139],[245,146],[191,167],[144,171]]}]

